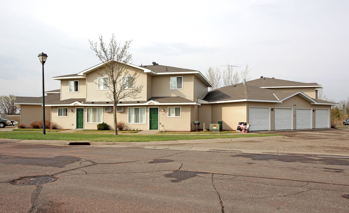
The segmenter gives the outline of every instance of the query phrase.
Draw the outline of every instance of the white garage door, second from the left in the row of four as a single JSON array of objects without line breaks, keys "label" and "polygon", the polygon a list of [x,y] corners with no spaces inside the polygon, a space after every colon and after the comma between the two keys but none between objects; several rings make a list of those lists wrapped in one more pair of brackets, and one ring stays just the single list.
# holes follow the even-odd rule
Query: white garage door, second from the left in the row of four
[{"label": "white garage door, second from the left in the row of four", "polygon": [[275,130],[292,130],[292,109],[275,108]]}]

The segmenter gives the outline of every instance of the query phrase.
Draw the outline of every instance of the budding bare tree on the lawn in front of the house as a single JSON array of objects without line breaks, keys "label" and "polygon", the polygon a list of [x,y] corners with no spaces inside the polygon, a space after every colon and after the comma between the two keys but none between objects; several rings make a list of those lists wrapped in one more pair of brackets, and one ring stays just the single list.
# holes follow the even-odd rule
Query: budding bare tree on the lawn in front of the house
[{"label": "budding bare tree on the lawn in front of the house", "polygon": [[139,73],[128,71],[128,64],[132,60],[132,54],[128,52],[131,41],[126,41],[122,46],[120,42],[116,41],[114,34],[112,34],[109,44],[103,41],[102,36],[99,36],[98,43],[90,40],[89,42],[91,50],[104,63],[104,69],[96,71],[98,75],[102,76],[97,84],[110,91],[107,97],[113,101],[114,135],[117,135],[116,111],[119,100],[125,100],[128,97],[139,98],[138,94],[143,89],[142,83],[135,83]]}]

